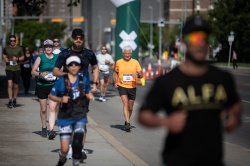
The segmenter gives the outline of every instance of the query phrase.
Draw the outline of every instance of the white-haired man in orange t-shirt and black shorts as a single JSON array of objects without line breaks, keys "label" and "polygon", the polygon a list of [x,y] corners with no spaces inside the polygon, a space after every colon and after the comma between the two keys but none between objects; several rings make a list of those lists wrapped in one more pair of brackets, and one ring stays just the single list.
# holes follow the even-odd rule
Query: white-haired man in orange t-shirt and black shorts
[{"label": "white-haired man in orange t-shirt and black shorts", "polygon": [[125,117],[125,130],[130,131],[130,117],[136,97],[136,78],[142,77],[142,69],[139,62],[132,59],[132,48],[125,46],[122,49],[123,59],[116,62],[115,88],[118,88],[123,102],[123,114]]}]

